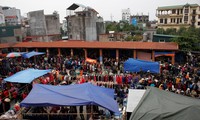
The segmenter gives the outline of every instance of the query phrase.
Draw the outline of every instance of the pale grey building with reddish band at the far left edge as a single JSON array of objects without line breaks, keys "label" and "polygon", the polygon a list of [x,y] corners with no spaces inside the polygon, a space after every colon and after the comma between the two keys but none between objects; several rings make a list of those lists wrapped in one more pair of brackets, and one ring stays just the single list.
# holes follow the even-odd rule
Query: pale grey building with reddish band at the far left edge
[{"label": "pale grey building with reddish band at the far left edge", "polygon": [[5,16],[6,25],[20,25],[21,12],[19,9],[11,7],[2,7],[2,12]]}]

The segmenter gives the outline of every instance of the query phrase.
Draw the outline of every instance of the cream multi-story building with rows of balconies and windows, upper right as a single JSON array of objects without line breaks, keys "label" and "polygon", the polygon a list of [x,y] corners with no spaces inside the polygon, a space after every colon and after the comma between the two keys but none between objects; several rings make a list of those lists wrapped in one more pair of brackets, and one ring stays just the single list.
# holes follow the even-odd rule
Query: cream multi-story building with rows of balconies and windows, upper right
[{"label": "cream multi-story building with rows of balconies and windows, upper right", "polygon": [[158,7],[156,16],[158,17],[158,28],[200,27],[200,6],[198,4]]}]

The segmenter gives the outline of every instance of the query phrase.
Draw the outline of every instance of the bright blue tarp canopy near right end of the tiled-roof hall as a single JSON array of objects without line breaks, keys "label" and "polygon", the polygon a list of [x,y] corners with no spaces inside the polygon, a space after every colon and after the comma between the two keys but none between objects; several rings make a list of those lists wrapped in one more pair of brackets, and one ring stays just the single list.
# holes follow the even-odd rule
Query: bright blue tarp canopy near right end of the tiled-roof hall
[{"label": "bright blue tarp canopy near right end of the tiled-roof hall", "polygon": [[151,73],[160,73],[160,64],[158,62],[151,62],[145,60],[138,60],[129,58],[124,62],[124,71],[140,72],[150,71]]}]

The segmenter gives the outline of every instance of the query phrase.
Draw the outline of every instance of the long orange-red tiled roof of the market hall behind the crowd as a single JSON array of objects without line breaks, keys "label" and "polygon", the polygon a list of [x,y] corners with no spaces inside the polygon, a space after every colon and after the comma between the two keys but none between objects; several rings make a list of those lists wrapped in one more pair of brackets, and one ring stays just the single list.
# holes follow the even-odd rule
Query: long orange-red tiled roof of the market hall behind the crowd
[{"label": "long orange-red tiled roof of the market hall behind the crowd", "polygon": [[106,49],[145,49],[145,50],[178,50],[176,43],[159,42],[86,42],[86,41],[56,41],[56,42],[21,42],[13,45],[15,48],[106,48]]}]

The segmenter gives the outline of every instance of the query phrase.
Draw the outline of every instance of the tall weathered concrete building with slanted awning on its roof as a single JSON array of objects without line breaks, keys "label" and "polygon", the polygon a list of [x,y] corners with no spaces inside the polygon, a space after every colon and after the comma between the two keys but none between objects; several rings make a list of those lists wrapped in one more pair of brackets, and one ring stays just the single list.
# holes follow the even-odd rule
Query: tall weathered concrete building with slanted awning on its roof
[{"label": "tall weathered concrete building with slanted awning on its roof", "polygon": [[81,4],[72,4],[67,8],[66,17],[69,40],[97,41],[98,34],[102,34],[105,28],[98,12],[91,7]]}]

